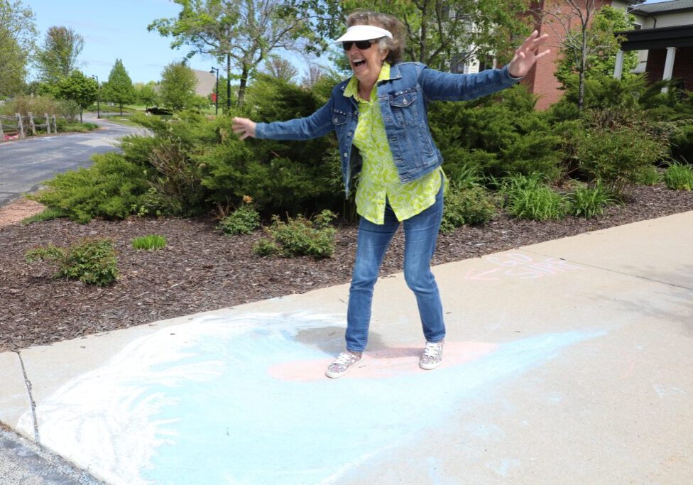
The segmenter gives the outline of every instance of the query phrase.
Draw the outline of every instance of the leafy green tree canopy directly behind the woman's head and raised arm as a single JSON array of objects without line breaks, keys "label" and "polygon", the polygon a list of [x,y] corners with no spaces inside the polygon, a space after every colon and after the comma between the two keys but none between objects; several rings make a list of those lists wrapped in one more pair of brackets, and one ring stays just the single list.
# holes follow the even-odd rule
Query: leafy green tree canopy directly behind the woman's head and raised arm
[{"label": "leafy green tree canopy directly behind the woman's head and raised arm", "polygon": [[[512,57],[513,36],[528,33],[523,13],[528,0],[290,0],[296,9],[310,11],[313,28],[323,39],[344,31],[346,16],[356,9],[390,13],[407,29],[406,60],[449,70],[453,62],[495,55]],[[312,43],[324,50],[327,42]]]}]

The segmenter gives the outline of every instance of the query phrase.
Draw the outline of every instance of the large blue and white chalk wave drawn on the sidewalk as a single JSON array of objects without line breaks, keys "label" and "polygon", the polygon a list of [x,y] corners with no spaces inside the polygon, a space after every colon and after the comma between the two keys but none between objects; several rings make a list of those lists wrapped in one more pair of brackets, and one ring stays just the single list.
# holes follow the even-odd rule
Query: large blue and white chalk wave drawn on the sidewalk
[{"label": "large blue and white chalk wave drawn on the sidewalk", "polygon": [[[207,316],[141,337],[38,403],[43,445],[114,485],[331,483],[391,462],[398,447],[454,420],[460,400],[604,334],[452,343],[430,372],[415,367],[412,344],[331,380],[322,373],[332,355],[306,334],[323,338],[343,321]],[[291,372],[277,376],[282,366]],[[31,431],[31,415],[19,426]]]}]

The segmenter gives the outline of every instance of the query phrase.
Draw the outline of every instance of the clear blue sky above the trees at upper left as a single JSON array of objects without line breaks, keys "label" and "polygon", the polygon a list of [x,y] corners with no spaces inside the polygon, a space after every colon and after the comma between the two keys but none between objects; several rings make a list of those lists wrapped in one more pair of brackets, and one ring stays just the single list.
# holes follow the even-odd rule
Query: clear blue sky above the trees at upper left
[{"label": "clear blue sky above the trees at upper left", "polygon": [[[657,3],[665,0],[650,0]],[[80,69],[108,80],[116,59],[121,59],[133,82],[158,81],[164,67],[182,60],[188,50],[170,48],[171,38],[148,32],[157,18],[177,17],[180,6],[170,0],[23,0],[36,15],[38,44],[50,26],[67,26],[84,38]],[[224,67],[212,58],[196,55],[188,62],[192,69],[209,71]],[[295,62],[297,67],[305,63]]]}]

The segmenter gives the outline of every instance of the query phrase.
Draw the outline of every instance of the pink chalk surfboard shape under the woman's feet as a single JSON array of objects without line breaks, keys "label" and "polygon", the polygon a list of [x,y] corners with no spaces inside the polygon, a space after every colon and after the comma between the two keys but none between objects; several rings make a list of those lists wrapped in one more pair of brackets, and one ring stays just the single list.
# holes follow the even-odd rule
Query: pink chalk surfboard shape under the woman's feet
[{"label": "pink chalk surfboard shape under the woman's feet", "polygon": [[[465,364],[480,359],[498,349],[498,344],[487,342],[445,342],[444,359],[441,368]],[[416,347],[390,347],[365,352],[364,358],[356,364],[344,379],[393,378],[420,374],[427,371],[419,369],[419,356],[422,349]],[[273,378],[283,381],[319,381],[324,379],[331,359],[310,359],[277,364],[268,369]]]}]

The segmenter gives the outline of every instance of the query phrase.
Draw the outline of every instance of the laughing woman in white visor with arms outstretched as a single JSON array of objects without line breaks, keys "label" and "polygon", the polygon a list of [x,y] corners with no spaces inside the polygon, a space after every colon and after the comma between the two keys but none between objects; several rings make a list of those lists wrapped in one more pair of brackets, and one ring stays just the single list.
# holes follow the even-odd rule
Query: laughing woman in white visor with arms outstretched
[{"label": "laughing woman in white visor with arms outstretched", "polygon": [[354,75],[332,89],[327,104],[310,116],[255,123],[234,118],[241,140],[305,140],[337,132],[346,195],[359,173],[356,209],[361,216],[356,263],[346,314],[346,349],[326,375],[346,374],[366,349],[373,286],[385,251],[400,222],[404,226],[404,276],[418,304],[426,344],[421,369],[442,362],[445,337],[442,304],[430,261],[442,218],[442,156],[427,124],[427,104],[474,99],[515,85],[536,60],[547,36],[535,31],[506,67],[459,75],[401,62],[405,30],[395,17],[371,11],[351,13],[341,43]]}]

